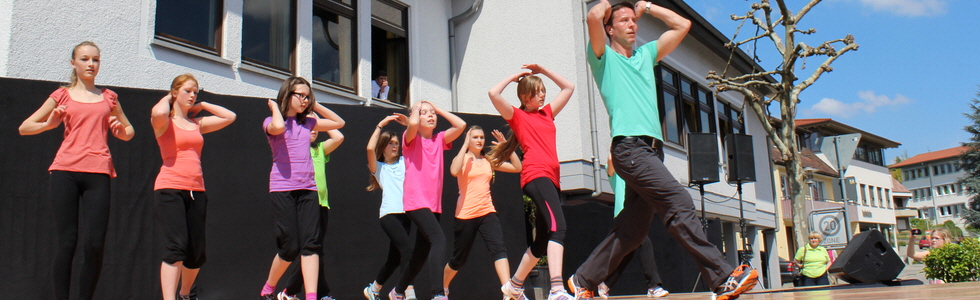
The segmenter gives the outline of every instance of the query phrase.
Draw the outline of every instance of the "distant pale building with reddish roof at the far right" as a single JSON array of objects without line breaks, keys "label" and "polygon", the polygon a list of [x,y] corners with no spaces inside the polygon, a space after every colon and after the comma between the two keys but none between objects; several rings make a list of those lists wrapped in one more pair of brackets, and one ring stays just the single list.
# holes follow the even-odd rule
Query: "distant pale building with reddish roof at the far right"
[{"label": "distant pale building with reddish roof at the far right", "polygon": [[966,176],[959,168],[959,156],[967,150],[960,146],[926,152],[888,166],[901,170],[902,185],[911,193],[906,206],[918,211],[916,217],[932,224],[953,221],[966,232],[963,214],[970,196],[957,181]]}]

